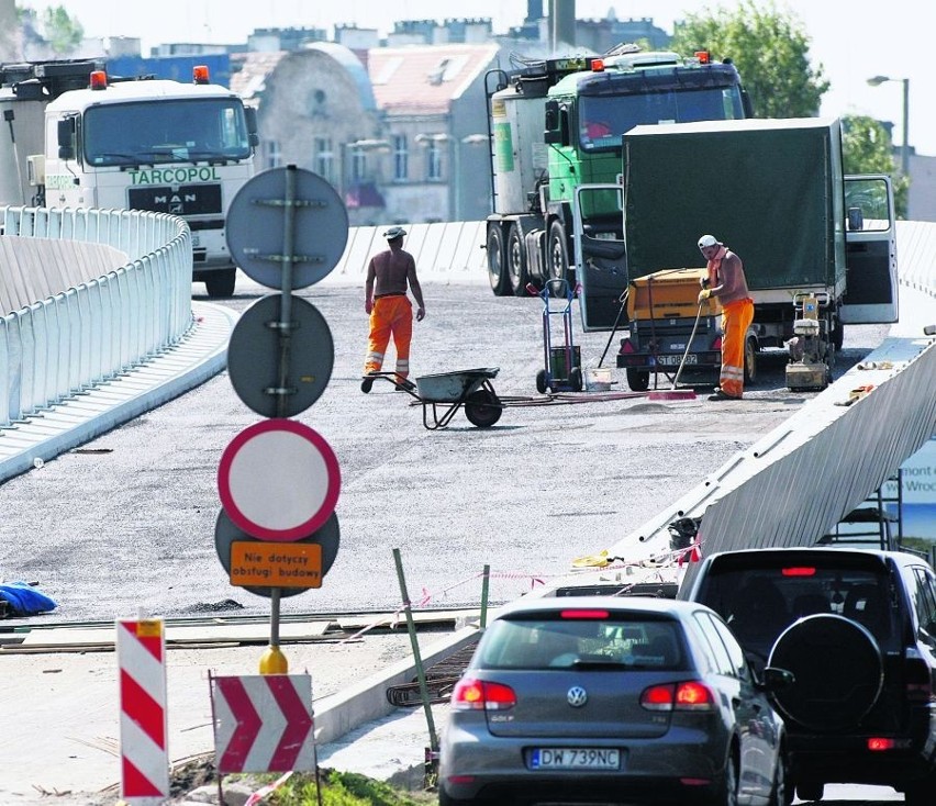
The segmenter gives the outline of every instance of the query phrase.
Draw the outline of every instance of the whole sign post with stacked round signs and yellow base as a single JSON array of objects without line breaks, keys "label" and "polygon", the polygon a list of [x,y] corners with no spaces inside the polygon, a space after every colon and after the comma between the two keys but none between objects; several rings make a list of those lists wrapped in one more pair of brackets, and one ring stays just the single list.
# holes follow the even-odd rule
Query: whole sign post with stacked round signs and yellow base
[{"label": "whole sign post with stacked round signs and yellow base", "polygon": [[[347,244],[347,210],[322,177],[289,165],[258,173],[237,191],[227,212],[225,232],[231,255],[244,272],[264,286],[279,289],[280,294],[278,299],[264,298],[248,309],[232,334],[229,374],[234,391],[253,411],[275,417],[270,422],[278,426],[254,426],[254,432],[248,428],[225,450],[219,469],[222,505],[234,525],[253,537],[302,540],[334,517],[339,474],[334,452],[324,439],[300,434],[317,448],[316,456],[309,445],[297,447],[300,444],[288,436],[299,434],[300,424],[287,417],[317,400],[334,363],[327,324],[311,303],[293,296],[292,291],[317,282],[335,268]],[[263,363],[257,349],[268,357],[267,380],[256,370]],[[276,430],[279,433],[274,434]],[[278,452],[283,447],[285,455]],[[297,480],[297,473],[300,493],[285,496],[283,489]],[[260,482],[264,474],[272,483]],[[334,547],[337,550],[337,537]],[[263,553],[250,550],[257,556]],[[280,556],[285,558],[293,551],[307,561],[314,553],[312,549],[283,549]],[[231,573],[230,547],[226,552]],[[238,557],[243,560],[244,556]],[[245,581],[263,579],[264,571],[256,563],[250,568],[249,572],[245,570]],[[288,579],[276,562],[267,563],[265,569],[271,579]],[[321,571],[316,585],[307,587],[321,585],[326,570]],[[261,587],[270,598],[270,646],[260,660],[260,672],[285,673],[288,667],[278,646],[283,585]],[[287,590],[292,591],[293,586]]]}]

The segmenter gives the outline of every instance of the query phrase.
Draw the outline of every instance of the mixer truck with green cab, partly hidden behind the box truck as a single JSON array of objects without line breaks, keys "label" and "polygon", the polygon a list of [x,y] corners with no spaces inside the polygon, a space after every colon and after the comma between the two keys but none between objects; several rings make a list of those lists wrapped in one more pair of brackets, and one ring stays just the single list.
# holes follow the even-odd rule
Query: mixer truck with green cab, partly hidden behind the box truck
[{"label": "mixer truck with green cab, partly hidden behind the box truck", "polygon": [[[617,182],[622,135],[638,124],[750,116],[738,72],[704,52],[682,58],[623,45],[602,57],[528,63],[486,77],[493,137],[487,261],[495,295],[573,281],[572,198],[581,183]],[[612,193],[582,211],[586,232],[621,238]]]}]

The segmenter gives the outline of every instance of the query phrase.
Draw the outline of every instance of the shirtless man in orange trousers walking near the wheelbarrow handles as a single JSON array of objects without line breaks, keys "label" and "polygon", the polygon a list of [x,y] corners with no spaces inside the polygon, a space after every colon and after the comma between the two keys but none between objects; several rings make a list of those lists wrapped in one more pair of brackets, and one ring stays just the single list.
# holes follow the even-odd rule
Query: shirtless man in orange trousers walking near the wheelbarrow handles
[{"label": "shirtless man in orange trousers walking near the wheelbarrow handles", "polygon": [[[413,305],[406,296],[408,288],[416,300],[416,321],[422,322],[426,315],[423,290],[416,278],[416,261],[410,253],[403,250],[405,234],[406,231],[401,226],[390,227],[383,233],[390,248],[370,259],[364,300],[364,310],[370,315],[370,336],[364,373],[380,372],[383,352],[392,335],[397,348],[398,391],[414,388],[406,380],[410,374],[410,342],[413,337]],[[360,389],[363,392],[369,392],[372,385],[374,379],[365,378]]]}]

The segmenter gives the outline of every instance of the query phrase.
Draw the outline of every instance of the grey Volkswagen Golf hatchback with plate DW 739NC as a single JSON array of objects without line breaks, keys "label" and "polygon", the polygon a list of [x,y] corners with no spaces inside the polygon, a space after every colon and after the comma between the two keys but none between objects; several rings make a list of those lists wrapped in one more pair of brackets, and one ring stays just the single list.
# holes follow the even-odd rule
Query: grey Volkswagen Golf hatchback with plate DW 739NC
[{"label": "grey Volkswagen Golf hatchback with plate DW 739NC", "polygon": [[523,600],[486,630],[452,695],[441,806],[785,806],[785,735],[732,631],[704,605]]}]

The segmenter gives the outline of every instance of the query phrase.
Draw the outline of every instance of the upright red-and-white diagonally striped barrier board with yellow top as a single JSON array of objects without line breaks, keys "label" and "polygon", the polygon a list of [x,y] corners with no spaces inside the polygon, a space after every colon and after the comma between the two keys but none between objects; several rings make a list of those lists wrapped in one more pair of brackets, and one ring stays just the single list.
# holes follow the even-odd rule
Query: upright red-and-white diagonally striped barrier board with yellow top
[{"label": "upright red-and-white diagonally striped barrier board with yellow top", "polygon": [[169,796],[166,634],[163,622],[119,620],[121,796],[157,806]]}]

